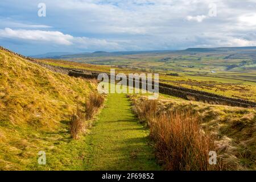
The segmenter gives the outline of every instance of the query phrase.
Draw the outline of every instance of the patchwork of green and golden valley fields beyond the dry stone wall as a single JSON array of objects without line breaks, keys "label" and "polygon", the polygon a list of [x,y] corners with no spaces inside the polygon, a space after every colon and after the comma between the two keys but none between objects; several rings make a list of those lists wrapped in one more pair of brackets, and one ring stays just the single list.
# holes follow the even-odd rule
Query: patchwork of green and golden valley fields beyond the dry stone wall
[{"label": "patchwork of green and golden valley fields beyond the dry stone wall", "polygon": [[[90,71],[159,73],[160,82],[226,97],[256,101],[256,49],[187,49],[135,55],[76,55],[41,60],[44,63]],[[64,59],[64,60],[63,60]],[[86,63],[86,64],[84,64]]]}]

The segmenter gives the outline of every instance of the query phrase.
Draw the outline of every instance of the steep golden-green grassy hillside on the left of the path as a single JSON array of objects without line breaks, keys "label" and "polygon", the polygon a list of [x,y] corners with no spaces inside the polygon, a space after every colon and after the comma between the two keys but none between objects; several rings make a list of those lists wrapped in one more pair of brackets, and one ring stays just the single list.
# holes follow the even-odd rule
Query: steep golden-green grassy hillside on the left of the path
[{"label": "steep golden-green grassy hillside on the left of the path", "polygon": [[[67,123],[93,89],[0,50],[0,169],[79,166],[83,138],[71,140]],[[38,165],[39,151],[46,151],[47,167]]]}]

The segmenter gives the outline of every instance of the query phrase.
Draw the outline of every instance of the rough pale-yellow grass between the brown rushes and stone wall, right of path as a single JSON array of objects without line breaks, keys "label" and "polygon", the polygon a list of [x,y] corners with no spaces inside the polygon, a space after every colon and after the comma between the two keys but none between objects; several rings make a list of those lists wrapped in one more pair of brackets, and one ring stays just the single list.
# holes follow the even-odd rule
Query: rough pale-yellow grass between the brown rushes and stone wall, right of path
[{"label": "rough pale-yellow grass between the brown rushes and stone wall, right of path", "polygon": [[[141,107],[146,97],[131,96],[134,110]],[[218,167],[226,170],[255,170],[256,161],[256,111],[241,107],[209,105],[194,101],[184,101],[178,98],[162,97],[158,100],[158,108],[163,113],[189,110],[198,115],[200,127],[205,133],[214,137],[214,146],[218,155]],[[143,114],[141,114],[143,115]],[[176,118],[154,121],[167,122]],[[190,117],[192,118],[192,116]],[[165,123],[164,125],[168,125]],[[164,132],[166,127],[162,128]],[[160,130],[159,130],[160,131]],[[165,135],[165,134],[163,134]]]}]

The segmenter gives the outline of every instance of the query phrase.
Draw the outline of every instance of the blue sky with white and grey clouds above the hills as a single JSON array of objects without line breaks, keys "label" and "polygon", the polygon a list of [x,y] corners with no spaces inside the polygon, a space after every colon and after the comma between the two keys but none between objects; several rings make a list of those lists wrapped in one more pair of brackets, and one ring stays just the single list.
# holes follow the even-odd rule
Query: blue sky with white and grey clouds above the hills
[{"label": "blue sky with white and grey clouds above the hills", "polygon": [[24,55],[256,46],[256,0],[1,0],[0,45]]}]

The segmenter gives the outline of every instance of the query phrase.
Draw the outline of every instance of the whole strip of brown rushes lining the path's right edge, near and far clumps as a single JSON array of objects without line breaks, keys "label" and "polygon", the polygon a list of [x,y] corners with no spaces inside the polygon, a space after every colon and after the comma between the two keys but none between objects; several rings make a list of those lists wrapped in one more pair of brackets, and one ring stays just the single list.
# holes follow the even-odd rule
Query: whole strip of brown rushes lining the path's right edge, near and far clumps
[{"label": "whole strip of brown rushes lining the path's right edge, near and far clumps", "polygon": [[140,121],[150,127],[155,154],[166,170],[218,170],[209,164],[209,151],[216,151],[214,135],[201,126],[201,117],[189,109],[170,110],[156,100],[134,100]]}]

